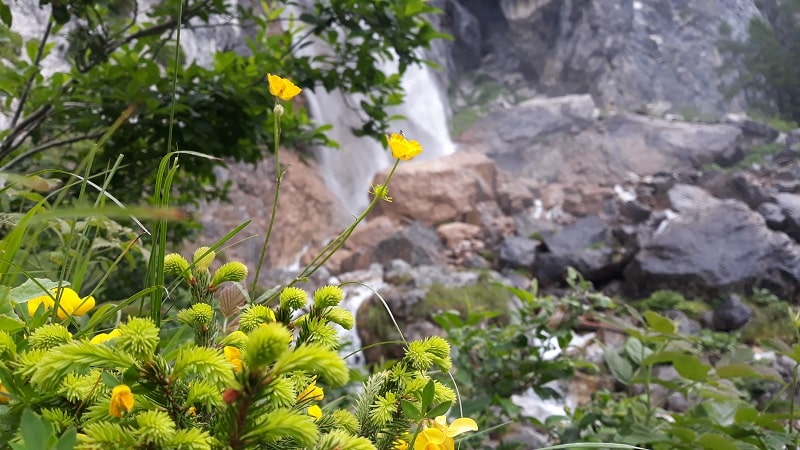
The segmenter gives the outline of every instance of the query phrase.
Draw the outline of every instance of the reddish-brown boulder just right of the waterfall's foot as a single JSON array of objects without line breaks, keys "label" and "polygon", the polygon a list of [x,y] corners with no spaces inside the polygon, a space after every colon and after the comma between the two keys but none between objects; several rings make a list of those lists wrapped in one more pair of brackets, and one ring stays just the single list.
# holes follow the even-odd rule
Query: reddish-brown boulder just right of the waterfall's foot
[{"label": "reddish-brown boulder just right of the waterfall's foot", "polygon": [[[387,173],[375,177],[380,183]],[[418,220],[426,226],[447,222],[480,225],[481,202],[496,201],[498,170],[478,153],[458,152],[428,161],[401,164],[394,173],[390,192],[394,202],[379,202],[373,214],[396,223]]]}]

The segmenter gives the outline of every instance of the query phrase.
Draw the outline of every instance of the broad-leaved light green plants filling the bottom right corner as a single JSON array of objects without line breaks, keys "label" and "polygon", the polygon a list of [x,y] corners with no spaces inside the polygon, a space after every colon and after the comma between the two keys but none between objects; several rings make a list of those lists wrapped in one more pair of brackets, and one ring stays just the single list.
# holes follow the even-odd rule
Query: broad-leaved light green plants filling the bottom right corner
[{"label": "broad-leaved light green plants filling the bottom right corner", "polygon": [[[609,372],[627,391],[598,392],[590,405],[548,419],[550,427],[560,430],[562,443],[610,441],[655,450],[796,445],[797,435],[783,425],[797,417],[796,411],[757,409],[740,387],[753,381],[784,383],[756,363],[752,352],[730,347],[712,362],[703,353],[703,337],[677,334],[669,320],[654,312],[632,314],[633,323],[643,327],[613,319],[628,337],[621,348],[605,353]],[[800,361],[800,353],[788,347],[782,353]],[[673,375],[659,370],[664,366],[674,369]],[[686,399],[685,411],[665,410],[670,393]]]}]

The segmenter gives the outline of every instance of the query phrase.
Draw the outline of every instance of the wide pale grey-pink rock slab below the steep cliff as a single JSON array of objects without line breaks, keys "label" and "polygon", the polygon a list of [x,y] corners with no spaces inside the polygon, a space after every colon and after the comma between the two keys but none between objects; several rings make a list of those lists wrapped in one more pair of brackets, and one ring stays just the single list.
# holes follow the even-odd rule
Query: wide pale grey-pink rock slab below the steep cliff
[{"label": "wide pale grey-pink rock slab below the steep cliff", "polygon": [[565,185],[728,165],[741,129],[635,114],[597,120],[588,95],[529,100],[485,118],[461,140],[515,176]]}]

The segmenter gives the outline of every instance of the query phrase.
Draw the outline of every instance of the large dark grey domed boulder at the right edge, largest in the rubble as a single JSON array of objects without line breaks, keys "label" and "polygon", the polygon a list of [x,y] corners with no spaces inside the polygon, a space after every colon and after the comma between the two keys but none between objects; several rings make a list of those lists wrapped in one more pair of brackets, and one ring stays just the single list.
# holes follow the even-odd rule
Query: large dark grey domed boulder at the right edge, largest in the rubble
[{"label": "large dark grey domed boulder at the right edge, largest in the rubble", "polygon": [[794,299],[800,286],[800,247],[767,228],[747,205],[721,200],[669,221],[642,244],[624,279],[632,297],[659,289],[695,297],[763,287]]}]

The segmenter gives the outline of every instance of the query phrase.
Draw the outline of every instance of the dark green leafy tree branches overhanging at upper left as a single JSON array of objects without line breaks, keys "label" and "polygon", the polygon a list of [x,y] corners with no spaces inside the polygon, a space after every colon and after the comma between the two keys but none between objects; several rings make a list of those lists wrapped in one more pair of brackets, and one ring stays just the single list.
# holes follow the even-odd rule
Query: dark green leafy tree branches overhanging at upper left
[{"label": "dark green leafy tree branches overhanging at upper left", "polygon": [[[356,131],[379,138],[391,119],[386,107],[403,99],[401,75],[423,62],[419,49],[445,37],[424,19],[437,10],[423,0],[320,0],[294,21],[284,20],[284,2],[249,9],[222,0],[189,0],[179,10],[178,3],[163,0],[146,15],[141,0],[40,3],[53,6],[40,39],[25,41],[0,25],[0,112],[12,117],[11,127],[0,131],[0,170],[68,167],[96,152],[91,174],[97,175],[127,155],[126,170],[107,189],[132,203],[155,194],[159,161],[173,149],[261,161],[264,149],[274,144],[266,71],[306,89],[364,94],[358,105],[364,122]],[[219,24],[221,18],[248,24],[253,38],[247,52],[220,51],[211,55],[210,67],[190,62],[174,73],[177,44],[170,38],[179,14],[188,28],[228,26]],[[39,63],[51,56],[58,31],[67,35],[70,67],[45,74]],[[329,50],[296,51],[317,39]],[[387,74],[383,65],[392,59],[397,73]],[[176,85],[173,75],[180,80]],[[179,103],[173,110],[174,98]],[[313,126],[304,110],[291,103],[285,107],[284,145],[332,144],[325,127]],[[110,128],[106,145],[89,145]],[[227,186],[217,186],[211,170],[222,164],[218,158],[184,165],[184,174],[174,180],[173,201],[224,196]]]}]

